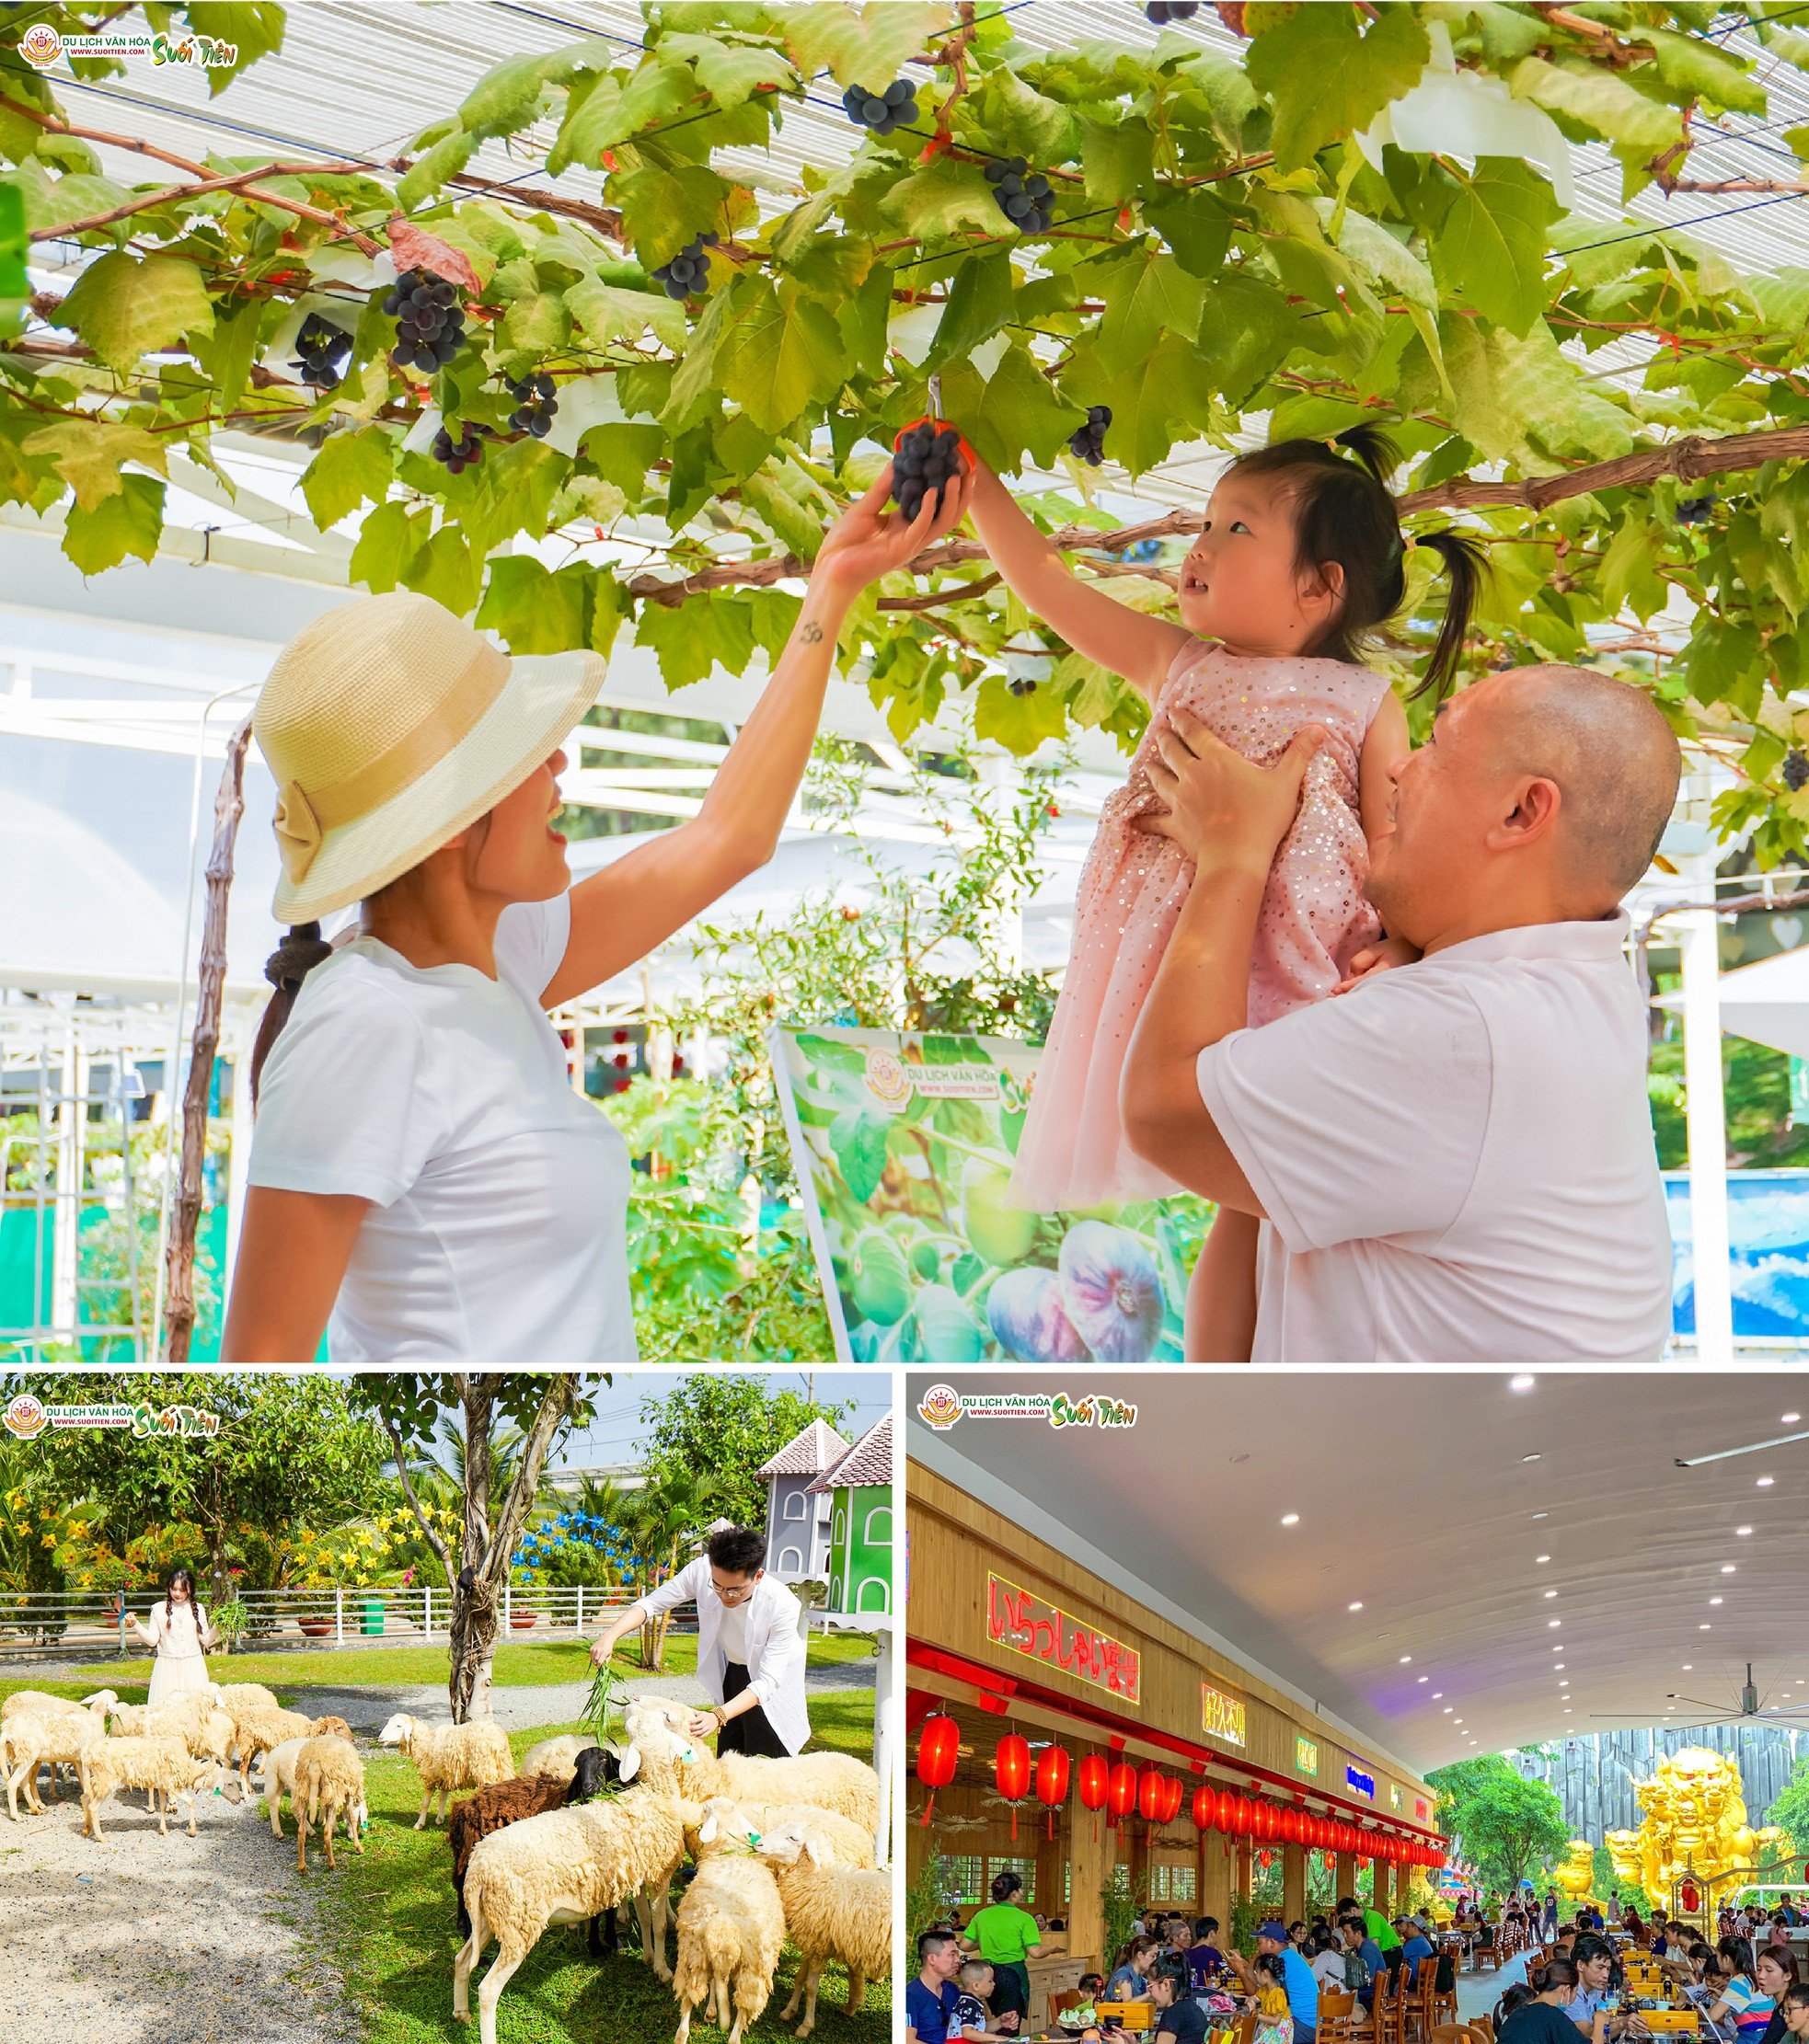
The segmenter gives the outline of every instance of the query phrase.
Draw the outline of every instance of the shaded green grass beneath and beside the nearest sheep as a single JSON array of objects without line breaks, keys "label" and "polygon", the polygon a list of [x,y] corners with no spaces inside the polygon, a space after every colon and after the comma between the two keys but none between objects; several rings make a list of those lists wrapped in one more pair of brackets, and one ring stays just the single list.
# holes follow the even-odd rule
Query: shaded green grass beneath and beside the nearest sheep
[{"label": "shaded green grass beneath and beside the nearest sheep", "polygon": [[[811,1721],[820,1746],[871,1758],[873,1709],[865,1694],[816,1697]],[[536,1739],[583,1729],[538,1725],[511,1733],[509,1744],[519,1760]],[[405,1760],[368,1754],[364,1776],[370,1801],[364,1856],[343,1852],[337,1874],[329,1874],[325,1862],[315,1870],[315,1856],[309,1854],[307,1878],[331,1891],[321,1911],[323,1956],[345,1977],[366,2044],[474,2038],[474,2026],[468,2030],[452,2019],[452,1958],[460,1940],[446,1833],[439,1827],[411,1829],[421,1793]],[[292,1838],[292,1825],[286,1829]],[[495,1946],[489,1956],[495,1956]],[[771,2044],[789,2038],[779,2009],[791,1993],[795,1966],[795,1954],[787,1950],[767,2015],[748,2036]],[[472,1977],[472,2009],[480,1979],[480,1972]],[[842,2013],[846,1993],[846,1975],[832,1966],[818,1995],[814,2034],[824,2044],[885,2044],[891,2036],[889,1983],[871,1983],[865,2007],[852,2017]],[[638,1952],[593,1962],[581,1930],[550,1930],[503,1991],[497,2044],[666,2044],[677,2024],[679,2005],[670,1987],[654,1979]],[[697,2017],[693,2026],[705,2040],[717,2036]]]}]

